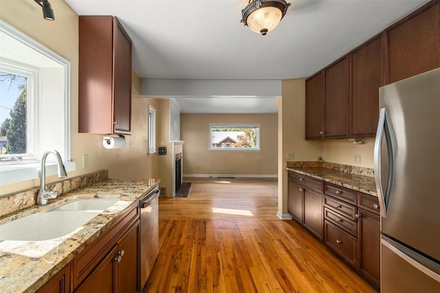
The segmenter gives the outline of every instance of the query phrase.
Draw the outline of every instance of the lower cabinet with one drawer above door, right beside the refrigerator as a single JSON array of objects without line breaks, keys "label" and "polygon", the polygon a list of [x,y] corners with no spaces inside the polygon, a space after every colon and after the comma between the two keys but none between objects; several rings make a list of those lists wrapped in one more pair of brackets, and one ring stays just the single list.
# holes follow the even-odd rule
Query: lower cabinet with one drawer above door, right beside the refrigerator
[{"label": "lower cabinet with one drawer above door, right beside the refrigerator", "polygon": [[377,198],[358,193],[359,274],[380,288],[380,209]]}]

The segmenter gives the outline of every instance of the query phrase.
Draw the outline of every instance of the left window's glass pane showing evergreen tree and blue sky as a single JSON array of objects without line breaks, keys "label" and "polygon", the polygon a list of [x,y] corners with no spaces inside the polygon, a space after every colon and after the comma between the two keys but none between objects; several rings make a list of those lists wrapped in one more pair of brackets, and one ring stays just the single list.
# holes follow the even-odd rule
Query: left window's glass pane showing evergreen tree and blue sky
[{"label": "left window's glass pane showing evergreen tree and blue sky", "polygon": [[26,154],[28,78],[0,71],[0,155]]}]

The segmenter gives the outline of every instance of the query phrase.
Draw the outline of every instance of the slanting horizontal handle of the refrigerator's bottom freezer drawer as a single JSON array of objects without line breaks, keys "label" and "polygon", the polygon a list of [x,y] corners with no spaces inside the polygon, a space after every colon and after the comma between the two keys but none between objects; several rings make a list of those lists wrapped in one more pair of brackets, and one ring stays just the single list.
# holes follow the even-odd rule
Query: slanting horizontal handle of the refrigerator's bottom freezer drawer
[{"label": "slanting horizontal handle of the refrigerator's bottom freezer drawer", "polygon": [[[386,246],[386,248],[393,251],[393,253],[401,257],[401,259],[404,259],[411,266],[440,283],[440,266],[437,263],[434,263],[433,261],[430,261],[429,259],[426,259],[426,257],[418,255],[415,252],[412,252],[405,246],[401,246],[391,239],[384,239],[382,237],[381,242],[383,246]],[[434,270],[431,270],[428,268],[428,266],[430,268],[434,268],[434,270],[437,270],[437,272],[434,272]]]}]

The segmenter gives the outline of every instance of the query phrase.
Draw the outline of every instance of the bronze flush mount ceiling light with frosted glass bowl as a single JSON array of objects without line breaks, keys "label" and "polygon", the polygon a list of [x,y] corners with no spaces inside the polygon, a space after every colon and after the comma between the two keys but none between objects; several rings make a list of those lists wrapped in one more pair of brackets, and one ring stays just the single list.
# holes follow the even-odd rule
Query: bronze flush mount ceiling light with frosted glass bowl
[{"label": "bronze flush mount ceiling light with frosted glass bowl", "polygon": [[241,10],[241,22],[252,32],[265,36],[280,23],[289,6],[285,0],[249,0]]}]

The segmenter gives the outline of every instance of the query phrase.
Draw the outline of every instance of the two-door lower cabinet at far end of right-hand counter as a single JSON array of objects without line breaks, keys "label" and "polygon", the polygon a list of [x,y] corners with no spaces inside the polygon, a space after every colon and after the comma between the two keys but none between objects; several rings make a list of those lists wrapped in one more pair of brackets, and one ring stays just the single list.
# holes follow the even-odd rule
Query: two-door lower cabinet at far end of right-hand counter
[{"label": "two-door lower cabinet at far end of right-hand counter", "polygon": [[288,209],[292,217],[322,240],[321,180],[289,172]]}]

